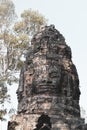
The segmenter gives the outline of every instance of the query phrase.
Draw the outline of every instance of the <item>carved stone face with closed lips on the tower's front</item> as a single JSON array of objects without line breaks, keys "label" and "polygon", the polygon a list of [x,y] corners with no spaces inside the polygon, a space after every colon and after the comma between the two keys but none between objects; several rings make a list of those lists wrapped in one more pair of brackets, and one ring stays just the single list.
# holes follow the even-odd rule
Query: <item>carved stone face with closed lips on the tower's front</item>
[{"label": "carved stone face with closed lips on the tower's front", "polygon": [[61,67],[46,57],[34,59],[34,81],[37,94],[56,94],[61,79]]}]

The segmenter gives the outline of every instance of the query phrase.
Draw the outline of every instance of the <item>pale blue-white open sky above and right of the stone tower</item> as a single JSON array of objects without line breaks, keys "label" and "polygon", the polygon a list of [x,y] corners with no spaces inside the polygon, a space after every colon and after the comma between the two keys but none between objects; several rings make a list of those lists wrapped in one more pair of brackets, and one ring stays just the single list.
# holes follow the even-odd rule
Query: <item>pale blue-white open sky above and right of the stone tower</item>
[{"label": "pale blue-white open sky above and right of the stone tower", "polygon": [[[16,13],[38,10],[54,24],[71,47],[80,80],[80,106],[87,113],[87,0],[13,0]],[[3,129],[6,130],[6,129]]]}]

